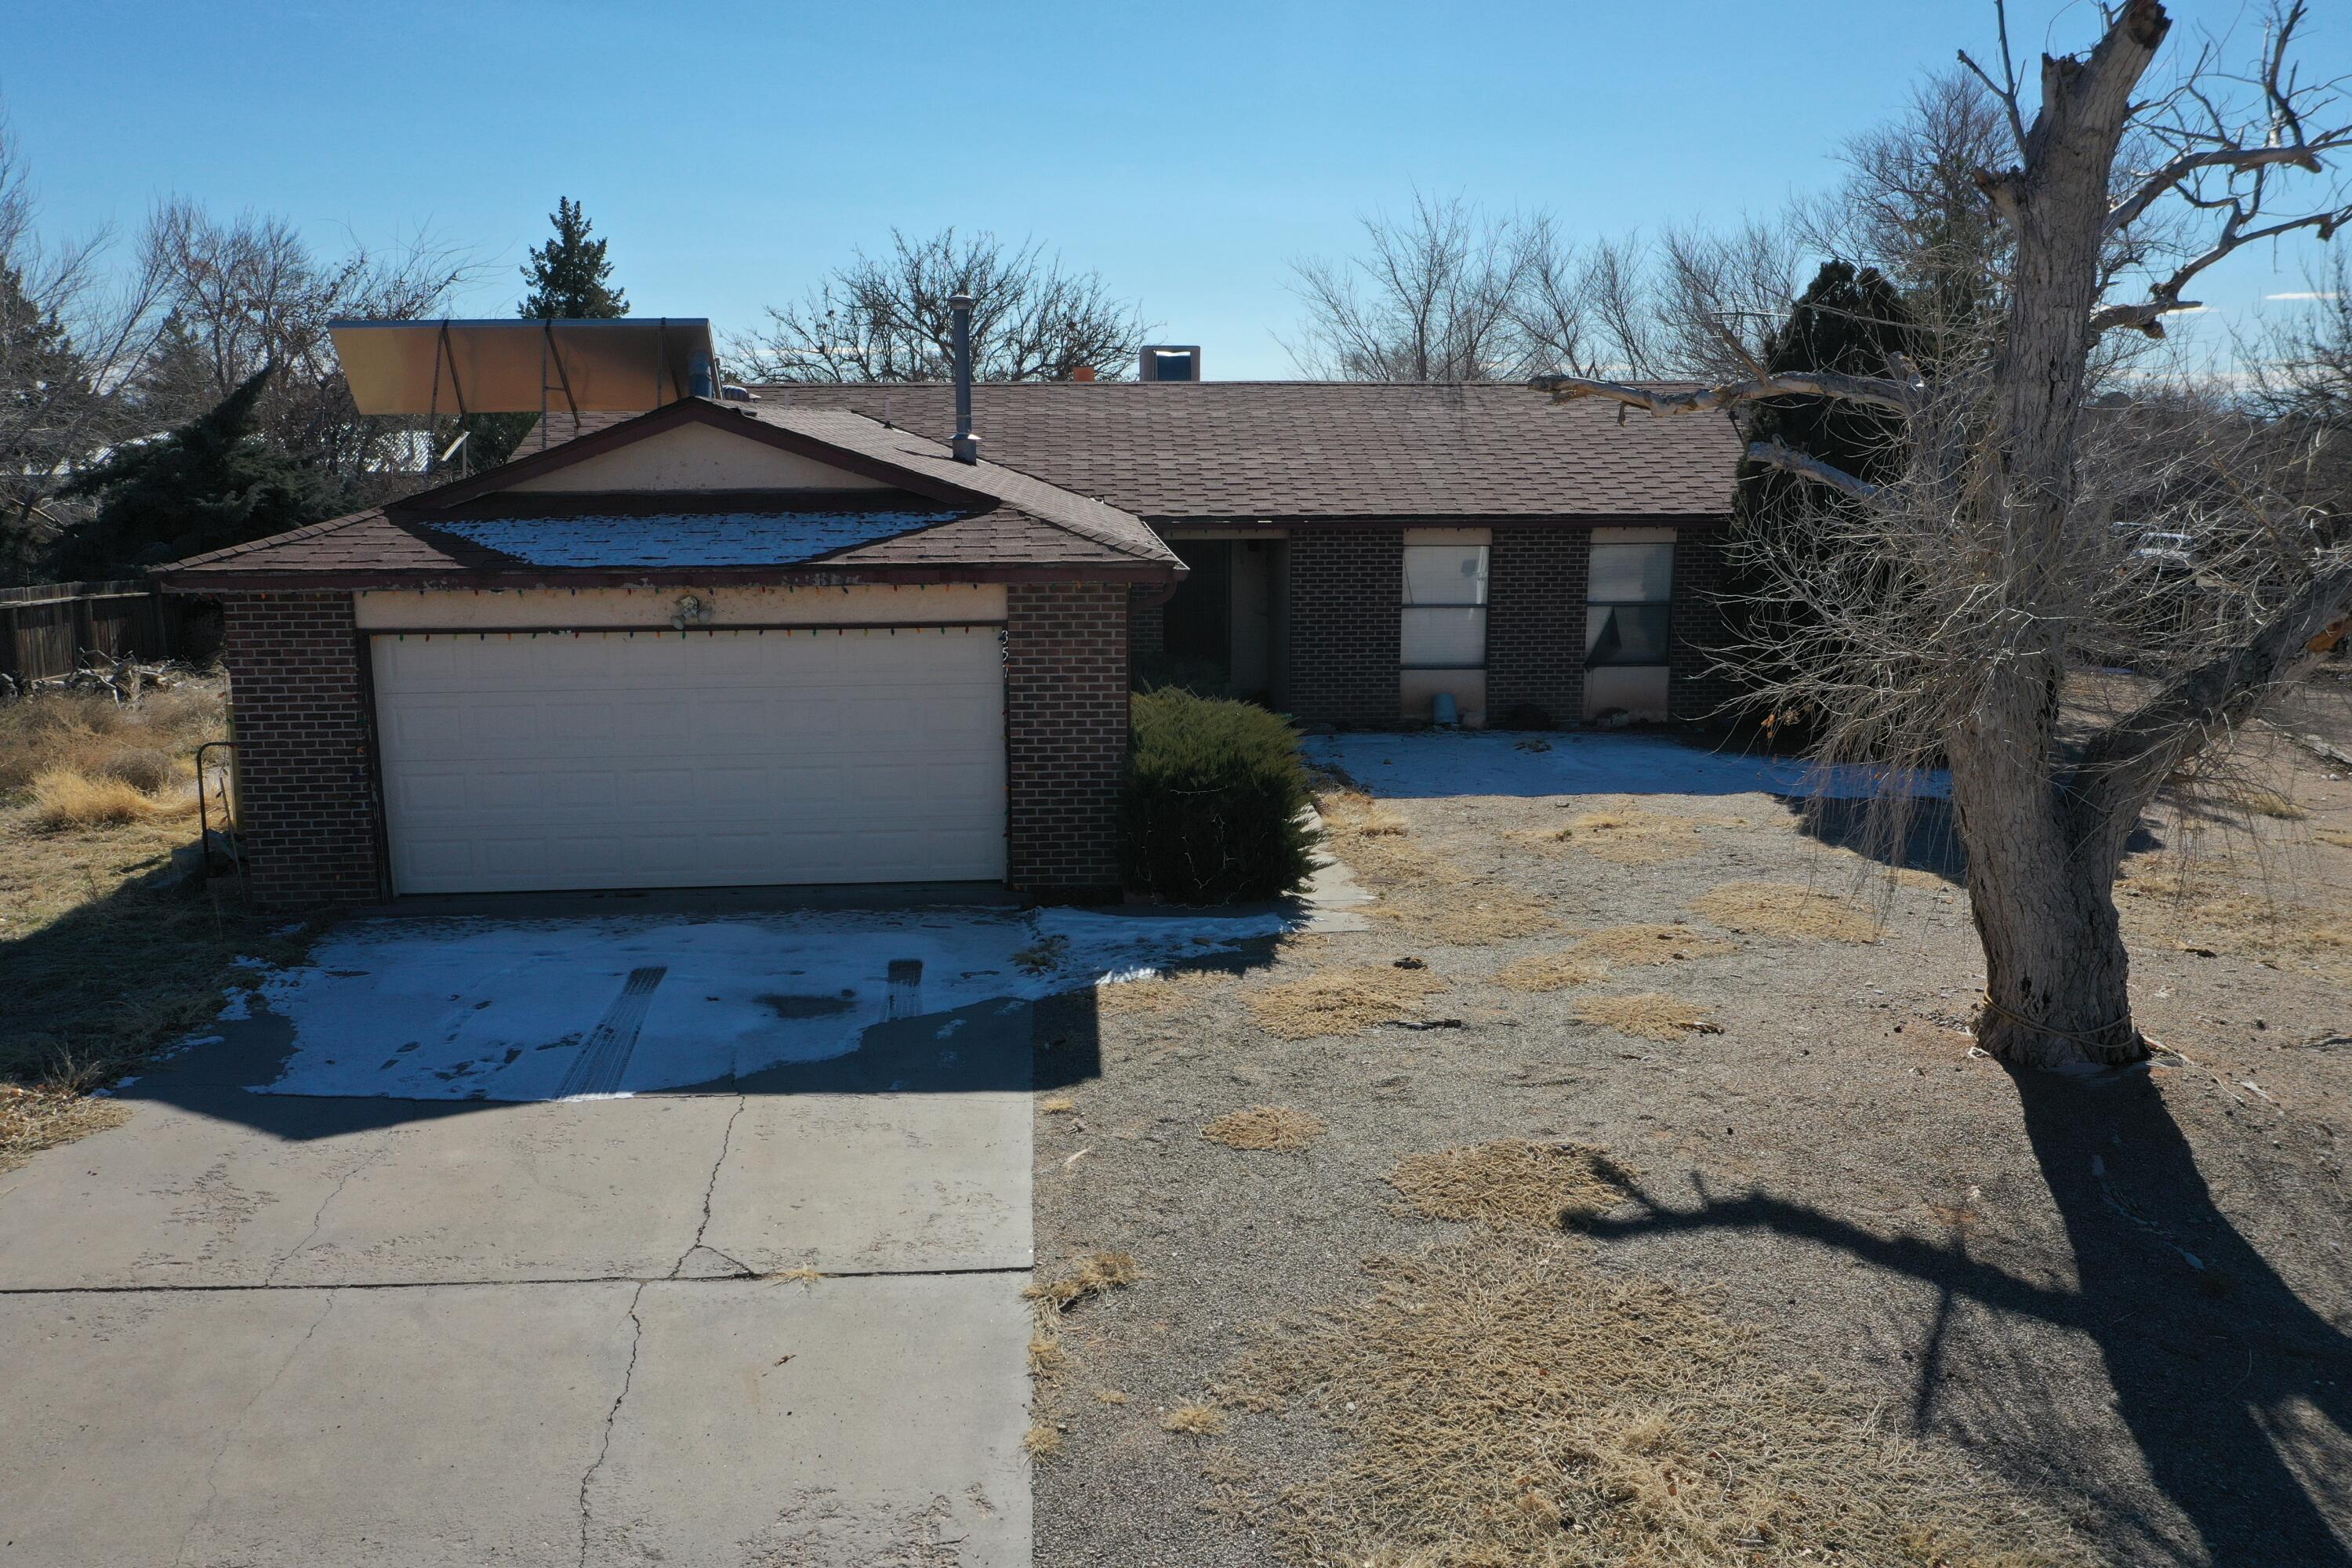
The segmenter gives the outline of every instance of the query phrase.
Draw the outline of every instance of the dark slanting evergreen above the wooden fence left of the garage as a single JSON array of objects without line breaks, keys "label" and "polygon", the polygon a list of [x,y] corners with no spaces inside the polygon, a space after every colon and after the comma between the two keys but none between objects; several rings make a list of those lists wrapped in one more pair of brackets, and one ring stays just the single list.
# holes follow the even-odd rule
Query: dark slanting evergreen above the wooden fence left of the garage
[{"label": "dark slanting evergreen above the wooden fence left of the garage", "polygon": [[73,480],[66,494],[96,496],[99,510],[61,541],[59,576],[153,567],[343,510],[341,487],[256,433],[273,374],[263,367],[179,430],[120,447]]}]

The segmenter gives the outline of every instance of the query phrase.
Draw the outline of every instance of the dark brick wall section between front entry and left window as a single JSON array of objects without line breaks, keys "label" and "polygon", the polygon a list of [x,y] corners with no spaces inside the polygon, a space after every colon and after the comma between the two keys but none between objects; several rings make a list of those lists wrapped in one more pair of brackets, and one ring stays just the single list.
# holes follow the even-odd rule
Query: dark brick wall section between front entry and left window
[{"label": "dark brick wall section between front entry and left window", "polygon": [[1395,729],[1402,527],[1294,527],[1289,555],[1289,682],[1305,724]]}]

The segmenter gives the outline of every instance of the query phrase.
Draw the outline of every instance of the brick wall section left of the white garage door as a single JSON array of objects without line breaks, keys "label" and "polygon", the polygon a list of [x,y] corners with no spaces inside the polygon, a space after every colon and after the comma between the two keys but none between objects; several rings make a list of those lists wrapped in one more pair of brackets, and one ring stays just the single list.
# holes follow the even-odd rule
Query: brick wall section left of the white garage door
[{"label": "brick wall section left of the white garage door", "polygon": [[372,903],[376,792],[348,592],[228,595],[238,842],[268,907]]}]

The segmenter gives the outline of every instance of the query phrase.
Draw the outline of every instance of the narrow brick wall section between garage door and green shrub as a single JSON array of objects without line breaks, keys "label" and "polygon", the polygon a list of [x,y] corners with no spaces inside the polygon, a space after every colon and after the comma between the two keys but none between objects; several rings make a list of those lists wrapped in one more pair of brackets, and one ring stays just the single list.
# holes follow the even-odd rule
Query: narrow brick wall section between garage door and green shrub
[{"label": "narrow brick wall section between garage door and green shrub", "polygon": [[1120,891],[1127,635],[1122,585],[1007,588],[1007,879],[1025,893]]}]

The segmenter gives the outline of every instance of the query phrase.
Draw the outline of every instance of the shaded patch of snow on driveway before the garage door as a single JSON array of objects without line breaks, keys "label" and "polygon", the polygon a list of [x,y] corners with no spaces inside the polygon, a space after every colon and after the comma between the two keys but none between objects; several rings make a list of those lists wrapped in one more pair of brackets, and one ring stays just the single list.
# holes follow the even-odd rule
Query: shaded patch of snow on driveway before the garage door
[{"label": "shaded patch of snow on driveway before the garage door", "polygon": [[894,1018],[1016,1011],[1294,924],[1096,910],[376,919],[322,936],[308,964],[240,994],[238,1018],[292,1025],[294,1051],[259,1093],[553,1100],[597,1025],[626,1013],[630,976],[659,969],[619,1081],[600,1084],[649,1093],[847,1056]]}]

